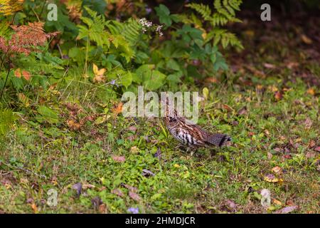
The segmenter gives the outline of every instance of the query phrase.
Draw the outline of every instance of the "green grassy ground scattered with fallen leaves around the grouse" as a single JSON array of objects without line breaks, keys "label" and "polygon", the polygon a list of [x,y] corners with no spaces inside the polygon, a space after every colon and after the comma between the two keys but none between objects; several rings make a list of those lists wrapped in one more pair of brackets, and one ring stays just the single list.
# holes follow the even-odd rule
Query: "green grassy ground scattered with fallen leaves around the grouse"
[{"label": "green grassy ground scattered with fallen leaves around the grouse", "polygon": [[[319,62],[294,51],[319,76]],[[319,92],[293,77],[295,66],[257,53],[228,80],[181,87],[207,86],[199,125],[233,137],[230,147],[192,157],[176,149],[160,120],[115,115],[119,98],[70,71],[68,88],[38,91],[1,138],[0,212],[260,213],[297,206],[293,212],[319,213]],[[39,105],[56,110],[58,122],[39,120]],[[47,204],[50,189],[58,192],[54,207]],[[262,189],[271,192],[268,208]]]}]

